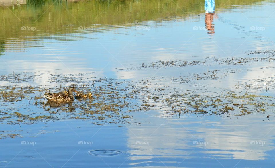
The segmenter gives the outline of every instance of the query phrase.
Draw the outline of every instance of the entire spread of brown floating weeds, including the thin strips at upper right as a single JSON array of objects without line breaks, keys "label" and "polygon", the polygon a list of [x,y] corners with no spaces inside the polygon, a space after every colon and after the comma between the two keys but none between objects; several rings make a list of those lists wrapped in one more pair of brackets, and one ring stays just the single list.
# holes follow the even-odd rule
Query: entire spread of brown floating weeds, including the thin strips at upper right
[{"label": "entire spread of brown floating weeds, including the thin strips at upper right", "polygon": [[[198,86],[195,81],[226,79],[230,75],[224,75],[225,71],[235,73],[241,70],[224,69],[222,68],[224,65],[238,67],[238,61],[243,62],[242,65],[262,61],[264,65],[264,62],[274,61],[272,53],[274,52],[265,51],[264,57],[250,59],[167,60],[150,65],[142,64],[139,67],[141,69],[173,67],[178,69],[182,66],[204,66],[205,69],[209,69],[206,73],[173,77],[171,80],[156,80],[153,77],[141,81],[124,81],[107,77],[97,79],[91,77],[93,73],[61,75],[49,72],[1,75],[0,122],[32,124],[41,121],[74,119],[97,125],[113,123],[139,125],[140,121],[135,119],[133,114],[149,110],[160,111],[163,116],[176,117],[215,115],[238,118],[249,114],[262,114],[260,116],[264,118],[268,116],[267,119],[270,120],[274,113],[274,98],[267,93],[269,89],[274,88],[272,77],[259,78],[254,83],[245,81],[240,84],[236,81],[234,86],[215,86],[214,89],[210,89],[207,85]],[[212,66],[220,64],[223,66],[211,70]],[[52,86],[50,89],[36,83],[45,76],[48,80],[44,82]],[[76,90],[81,91],[78,94],[89,94],[86,97],[78,95],[78,99],[68,103],[47,102],[43,98],[46,92],[65,93],[69,86],[74,86]],[[189,89],[186,86],[189,86]]]}]

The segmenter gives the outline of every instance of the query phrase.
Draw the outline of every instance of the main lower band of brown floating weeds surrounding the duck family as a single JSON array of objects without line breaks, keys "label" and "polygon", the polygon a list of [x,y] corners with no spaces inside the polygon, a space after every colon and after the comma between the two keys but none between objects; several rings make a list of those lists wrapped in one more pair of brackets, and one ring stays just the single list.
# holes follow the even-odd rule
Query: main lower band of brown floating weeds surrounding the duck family
[{"label": "main lower band of brown floating weeds surrounding the duck family", "polygon": [[[17,76],[23,80],[28,78],[25,73],[7,75],[7,79]],[[24,76],[26,77],[24,79]],[[52,75],[55,76],[55,75]],[[36,76],[36,77],[39,77]],[[82,81],[83,79],[66,75],[66,77]],[[58,83],[66,80],[58,75]],[[6,79],[6,78],[4,78]],[[8,81],[8,80],[7,80]],[[11,82],[11,81],[10,81]],[[273,110],[272,97],[250,93],[235,93],[225,89],[222,93],[197,94],[196,91],[186,90],[182,93],[171,91],[170,86],[150,87],[149,80],[138,87],[134,82],[117,81],[112,79],[94,80],[94,84],[73,84],[76,88],[91,91],[93,99],[77,99],[74,103],[49,103],[41,96],[49,91],[41,87],[20,87],[13,81],[14,86],[2,87],[0,92],[1,104],[0,121],[7,124],[34,123],[45,120],[62,120],[66,118],[90,121],[94,124],[133,123],[139,121],[131,116],[133,112],[161,110],[164,115],[245,115],[263,113]],[[18,85],[18,86],[17,86]],[[148,85],[149,87],[146,87]],[[63,87],[53,88],[56,91]],[[22,109],[24,114],[21,113]],[[27,110],[26,110],[27,109]]]}]

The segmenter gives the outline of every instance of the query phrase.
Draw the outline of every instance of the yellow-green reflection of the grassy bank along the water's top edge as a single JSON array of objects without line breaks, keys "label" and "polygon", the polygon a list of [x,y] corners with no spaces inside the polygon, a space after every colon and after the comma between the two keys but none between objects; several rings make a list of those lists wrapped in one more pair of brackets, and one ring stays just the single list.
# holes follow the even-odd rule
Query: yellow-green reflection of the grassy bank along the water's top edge
[{"label": "yellow-green reflection of the grassy bank along the water's top edge", "polygon": [[[211,2],[211,0],[209,1]],[[230,8],[231,5],[250,5],[253,2],[261,1],[263,0],[216,0],[216,7]],[[14,0],[14,2],[17,1]],[[96,25],[93,28],[97,29],[100,25],[133,26],[133,24],[137,24],[136,20],[166,20],[170,19],[170,16],[187,19],[191,13],[201,13],[203,7],[201,6],[203,5],[201,0],[193,0],[192,3],[180,0],[173,0],[170,3],[159,0],[20,0],[19,2],[20,6],[12,6],[13,3],[11,2],[4,3],[5,5],[0,3],[0,6],[3,7],[0,13],[0,32],[1,38],[4,40],[17,39],[19,34],[22,35],[22,38],[48,33],[66,34],[78,30],[79,26],[90,27]],[[129,15],[131,13],[134,13],[135,16]],[[100,17],[98,17],[99,14]],[[35,27],[36,31],[22,31],[22,26]],[[12,31],[10,28],[13,28]],[[31,39],[28,38],[28,40]]]}]

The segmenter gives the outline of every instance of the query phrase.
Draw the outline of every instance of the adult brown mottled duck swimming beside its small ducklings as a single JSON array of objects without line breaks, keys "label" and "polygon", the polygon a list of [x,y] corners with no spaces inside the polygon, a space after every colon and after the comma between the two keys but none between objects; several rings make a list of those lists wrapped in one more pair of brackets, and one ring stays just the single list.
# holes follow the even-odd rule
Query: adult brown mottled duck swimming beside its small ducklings
[{"label": "adult brown mottled duck swimming beside its small ducklings", "polygon": [[55,101],[55,102],[67,102],[67,101],[74,101],[73,92],[77,92],[74,87],[69,87],[68,95],[59,94],[59,93],[46,93],[44,97],[48,101]]}]

